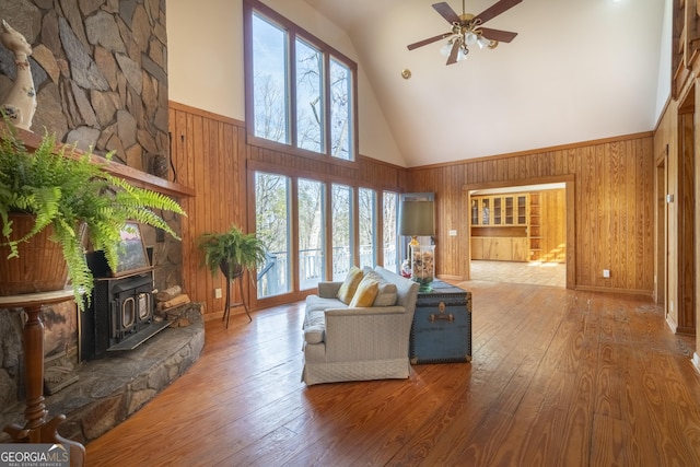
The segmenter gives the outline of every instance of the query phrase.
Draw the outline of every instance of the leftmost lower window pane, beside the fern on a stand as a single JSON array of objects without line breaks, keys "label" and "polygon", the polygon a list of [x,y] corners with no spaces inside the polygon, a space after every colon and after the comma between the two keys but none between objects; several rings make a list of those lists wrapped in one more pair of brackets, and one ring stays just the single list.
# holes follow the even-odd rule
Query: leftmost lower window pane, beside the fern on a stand
[{"label": "leftmost lower window pane, beside the fern on a stand", "polygon": [[268,248],[268,261],[258,272],[258,299],[291,291],[290,179],[255,174],[256,233]]}]

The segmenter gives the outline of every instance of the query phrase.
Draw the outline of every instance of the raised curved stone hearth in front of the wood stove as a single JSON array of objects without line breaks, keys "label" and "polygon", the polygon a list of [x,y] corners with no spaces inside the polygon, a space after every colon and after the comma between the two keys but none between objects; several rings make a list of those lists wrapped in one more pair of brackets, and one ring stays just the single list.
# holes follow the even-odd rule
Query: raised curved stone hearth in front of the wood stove
[{"label": "raised curved stone hearth in front of the wood stove", "polygon": [[[139,410],[197,361],[205,346],[199,305],[188,305],[183,317],[189,326],[165,329],[133,350],[78,364],[78,381],[46,396],[48,418],[67,417],[59,433],[89,443]],[[23,421],[23,401],[2,407],[2,427]],[[0,443],[10,441],[7,433],[0,434]]]}]

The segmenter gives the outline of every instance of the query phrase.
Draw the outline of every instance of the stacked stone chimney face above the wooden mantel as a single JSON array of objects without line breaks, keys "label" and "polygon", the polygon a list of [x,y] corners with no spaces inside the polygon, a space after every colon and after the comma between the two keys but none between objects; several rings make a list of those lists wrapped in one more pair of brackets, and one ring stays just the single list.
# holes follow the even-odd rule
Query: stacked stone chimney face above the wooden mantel
[{"label": "stacked stone chimney face above the wooden mantel", "polygon": [[[3,0],[0,17],[33,47],[34,132],[143,172],[167,155],[165,0]],[[14,75],[0,47],[0,97]]]}]

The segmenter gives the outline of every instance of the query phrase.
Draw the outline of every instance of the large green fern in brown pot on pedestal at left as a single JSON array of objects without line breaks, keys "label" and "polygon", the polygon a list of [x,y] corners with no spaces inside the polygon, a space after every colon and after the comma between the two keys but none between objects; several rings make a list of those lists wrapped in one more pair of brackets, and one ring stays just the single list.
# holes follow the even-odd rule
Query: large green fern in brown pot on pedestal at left
[{"label": "large green fern in brown pot on pedestal at left", "polygon": [[[82,297],[89,301],[93,289],[85,258],[88,243],[103,250],[110,269],[117,270],[120,235],[127,221],[162,229],[177,238],[154,212],[185,214],[175,200],[131,186],[108,173],[106,163],[92,161],[89,153],[57,147],[52,135],[45,133],[36,150],[30,151],[14,127],[5,121],[4,128],[0,142],[0,273],[12,277],[0,277],[0,282],[25,283],[27,288],[19,292],[2,290],[2,294],[62,289],[69,279],[75,302],[83,310]],[[58,257],[47,253],[51,246],[60,248]],[[24,258],[37,250],[43,256]],[[61,284],[60,278],[31,283],[42,269],[59,270],[60,275],[61,268],[67,271],[61,287],[56,287]],[[42,290],[46,283],[49,289]]]}]

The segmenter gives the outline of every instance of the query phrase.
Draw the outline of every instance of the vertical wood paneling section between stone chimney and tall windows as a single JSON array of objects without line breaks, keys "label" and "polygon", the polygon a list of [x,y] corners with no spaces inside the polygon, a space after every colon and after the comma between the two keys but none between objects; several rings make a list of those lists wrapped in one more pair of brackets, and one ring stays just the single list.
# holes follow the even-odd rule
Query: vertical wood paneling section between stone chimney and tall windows
[{"label": "vertical wood paneling section between stone chimney and tall windows", "polygon": [[[182,200],[188,215],[183,221],[182,235],[183,291],[192,301],[203,303],[206,314],[221,315],[225,280],[222,275],[212,278],[201,267],[197,240],[206,232],[245,224],[245,160],[240,157],[245,130],[237,121],[171,103],[170,131],[171,177],[196,191]],[[222,299],[214,297],[214,289],[222,290]]]}]

